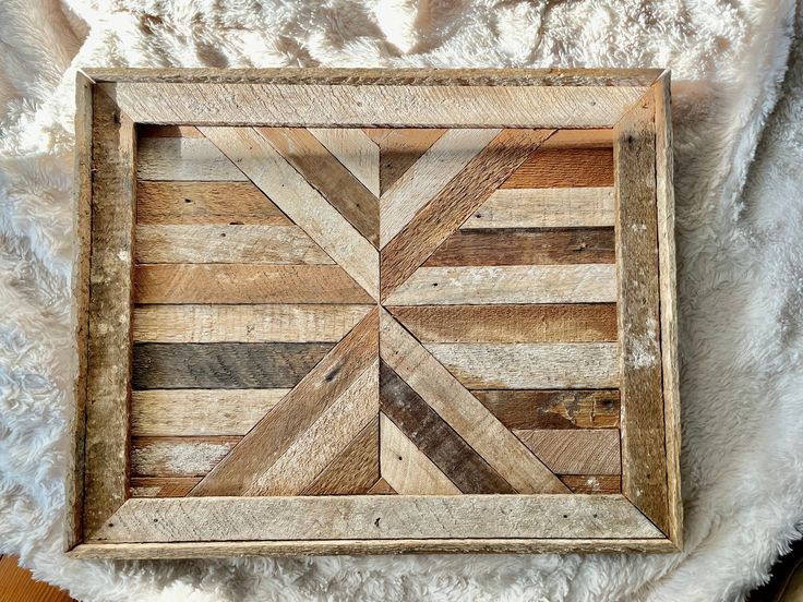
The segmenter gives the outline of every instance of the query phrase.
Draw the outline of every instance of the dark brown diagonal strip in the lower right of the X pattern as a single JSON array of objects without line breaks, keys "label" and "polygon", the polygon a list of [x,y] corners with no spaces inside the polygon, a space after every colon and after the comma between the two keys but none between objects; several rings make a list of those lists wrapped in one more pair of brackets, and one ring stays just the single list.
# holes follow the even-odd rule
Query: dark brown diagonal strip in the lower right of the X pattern
[{"label": "dark brown diagonal strip in the lower right of the X pattern", "polygon": [[380,408],[463,493],[516,493],[384,362],[380,369]]}]

